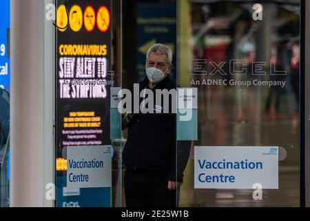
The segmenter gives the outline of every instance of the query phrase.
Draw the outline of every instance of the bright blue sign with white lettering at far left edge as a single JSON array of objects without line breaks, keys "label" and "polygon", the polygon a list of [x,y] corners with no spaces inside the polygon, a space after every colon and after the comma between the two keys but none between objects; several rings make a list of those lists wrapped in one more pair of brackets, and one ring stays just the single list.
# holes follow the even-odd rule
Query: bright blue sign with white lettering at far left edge
[{"label": "bright blue sign with white lettering at far left edge", "polygon": [[8,30],[10,28],[10,0],[0,1],[0,87],[10,92],[10,59]]}]

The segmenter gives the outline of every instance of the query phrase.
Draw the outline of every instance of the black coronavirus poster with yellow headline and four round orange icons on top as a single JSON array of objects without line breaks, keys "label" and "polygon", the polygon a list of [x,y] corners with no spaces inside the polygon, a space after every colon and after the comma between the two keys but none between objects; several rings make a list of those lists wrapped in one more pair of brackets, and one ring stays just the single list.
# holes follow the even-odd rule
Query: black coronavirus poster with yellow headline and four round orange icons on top
[{"label": "black coronavirus poster with yellow headline and four round orange icons on top", "polygon": [[[58,1],[56,32],[56,206],[110,206],[111,188],[81,183],[81,191],[65,192],[70,176],[67,150],[81,148],[88,155],[109,146],[110,88],[114,86],[111,61],[110,1]],[[104,8],[104,10],[102,10]],[[98,14],[102,14],[99,16]],[[103,21],[105,19],[105,21]],[[97,25],[96,25],[97,24]],[[89,148],[88,148],[89,147]],[[77,152],[78,155],[84,152]],[[75,153],[75,152],[74,152]],[[76,155],[87,159],[85,155]],[[76,159],[73,157],[73,161]],[[68,161],[68,162],[67,162]],[[68,167],[68,168],[69,168]],[[100,171],[100,169],[99,169]],[[92,173],[81,171],[81,173]],[[89,181],[92,177],[89,177]],[[106,177],[106,184],[110,177]],[[69,179],[70,180],[70,179]],[[74,185],[79,186],[79,183]],[[98,188],[92,189],[93,186]],[[86,188],[87,187],[87,188]]]}]

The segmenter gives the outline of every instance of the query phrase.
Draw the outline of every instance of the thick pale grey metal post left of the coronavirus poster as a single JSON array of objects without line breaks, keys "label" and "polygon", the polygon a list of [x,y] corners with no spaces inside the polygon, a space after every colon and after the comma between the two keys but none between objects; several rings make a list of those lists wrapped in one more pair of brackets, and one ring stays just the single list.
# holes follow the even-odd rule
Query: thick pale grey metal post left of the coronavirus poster
[{"label": "thick pale grey metal post left of the coronavirus poster", "polygon": [[54,205],[45,198],[54,182],[54,32],[46,2],[11,0],[10,206]]}]

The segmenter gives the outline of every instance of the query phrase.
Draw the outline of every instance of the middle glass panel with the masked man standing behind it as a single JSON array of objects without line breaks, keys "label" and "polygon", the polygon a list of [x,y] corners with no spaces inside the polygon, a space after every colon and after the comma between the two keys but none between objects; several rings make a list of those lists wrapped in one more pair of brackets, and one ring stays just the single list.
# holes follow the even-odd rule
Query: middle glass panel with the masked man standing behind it
[{"label": "middle glass panel with the masked man standing behind it", "polygon": [[[138,90],[152,88],[154,95],[156,89],[175,85],[176,11],[176,0],[123,1],[123,88],[133,92],[134,84],[140,83]],[[151,55],[150,62],[146,63],[147,52],[154,44],[165,44],[171,49],[172,66],[163,52],[167,48],[162,47],[153,48],[158,57]],[[169,75],[149,85],[146,66],[165,69],[163,73]],[[144,104],[142,99],[139,101],[138,93],[132,93],[132,99],[137,99],[138,104]],[[126,170],[123,206],[176,206],[176,191],[167,189],[167,178],[175,180],[172,177],[173,153],[176,148],[174,116],[163,113],[161,110],[165,106],[155,105],[155,99],[154,104],[146,103],[145,106],[153,113],[149,111],[151,113],[143,114],[140,108],[139,113],[124,115],[123,137],[126,146],[123,163]]]}]

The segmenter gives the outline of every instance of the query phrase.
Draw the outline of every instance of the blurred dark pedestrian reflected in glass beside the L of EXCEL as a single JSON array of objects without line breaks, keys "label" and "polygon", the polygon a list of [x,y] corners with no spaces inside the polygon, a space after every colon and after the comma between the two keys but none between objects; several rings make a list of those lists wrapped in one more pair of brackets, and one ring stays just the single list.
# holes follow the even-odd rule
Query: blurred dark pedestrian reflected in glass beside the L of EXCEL
[{"label": "blurred dark pedestrian reflected in glass beside the L of EXCEL", "polygon": [[[286,77],[285,75],[276,75],[276,71],[277,72],[285,71],[285,68],[282,62],[280,61],[280,59],[277,59],[276,64],[271,64],[271,65],[273,65],[273,68],[272,68],[269,80],[270,81],[284,81]],[[281,89],[282,89],[281,86],[271,86],[271,88],[269,88],[269,94],[268,94],[266,106],[265,106],[266,112],[270,111],[271,103],[274,102],[276,113],[279,113]]]}]

